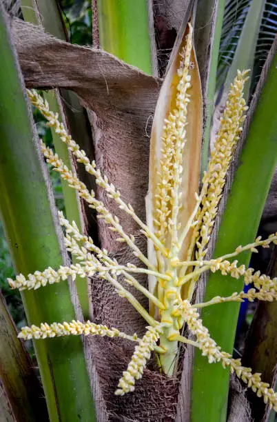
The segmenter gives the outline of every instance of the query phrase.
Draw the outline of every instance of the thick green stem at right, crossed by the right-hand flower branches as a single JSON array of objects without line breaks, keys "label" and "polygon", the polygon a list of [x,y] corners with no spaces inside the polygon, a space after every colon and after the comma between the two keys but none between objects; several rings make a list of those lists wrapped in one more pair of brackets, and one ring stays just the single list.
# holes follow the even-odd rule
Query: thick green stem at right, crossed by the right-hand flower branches
[{"label": "thick green stem at right, crossed by the right-hand flower branches", "polygon": [[[256,237],[271,179],[277,164],[277,56],[273,59],[256,111],[249,127],[245,147],[240,155],[232,190],[218,232],[215,257],[235,250],[238,245],[251,243]],[[240,254],[239,263],[249,264],[251,252]],[[243,290],[243,280],[218,273],[210,274],[205,301],[227,297]],[[226,352],[232,353],[239,303],[204,308],[203,324],[212,338]],[[225,422],[229,371],[220,363],[210,365],[196,350],[192,389],[192,422]],[[199,405],[201,403],[201,406]]]}]

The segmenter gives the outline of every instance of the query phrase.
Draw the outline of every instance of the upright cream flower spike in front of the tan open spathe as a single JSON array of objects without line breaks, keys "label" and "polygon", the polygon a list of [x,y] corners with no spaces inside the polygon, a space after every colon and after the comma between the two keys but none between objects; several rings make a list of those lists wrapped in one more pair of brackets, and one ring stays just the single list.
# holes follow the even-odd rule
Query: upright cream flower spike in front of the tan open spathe
[{"label": "upright cream flower spike in front of the tan open spathe", "polygon": [[154,225],[156,236],[165,242],[165,235],[173,230],[177,242],[176,219],[180,208],[178,190],[182,179],[182,152],[186,143],[187,104],[191,77],[189,75],[190,54],[192,51],[192,27],[189,27],[186,48],[181,52],[179,82],[177,86],[176,108],[165,119],[163,148],[161,150],[161,171],[158,172]]}]

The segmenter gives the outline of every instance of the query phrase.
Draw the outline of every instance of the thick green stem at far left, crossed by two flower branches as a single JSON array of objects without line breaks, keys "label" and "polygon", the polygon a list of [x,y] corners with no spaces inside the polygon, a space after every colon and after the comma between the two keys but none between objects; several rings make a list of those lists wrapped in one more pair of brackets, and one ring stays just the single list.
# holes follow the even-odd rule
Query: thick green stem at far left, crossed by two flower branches
[{"label": "thick green stem at far left, crossed by two flower branches", "polygon": [[[0,12],[0,212],[14,268],[27,275],[48,265],[57,268],[62,259],[43,162],[1,3]],[[66,283],[22,296],[30,324],[75,317]],[[35,341],[34,346],[50,421],[95,420],[81,339]]]}]

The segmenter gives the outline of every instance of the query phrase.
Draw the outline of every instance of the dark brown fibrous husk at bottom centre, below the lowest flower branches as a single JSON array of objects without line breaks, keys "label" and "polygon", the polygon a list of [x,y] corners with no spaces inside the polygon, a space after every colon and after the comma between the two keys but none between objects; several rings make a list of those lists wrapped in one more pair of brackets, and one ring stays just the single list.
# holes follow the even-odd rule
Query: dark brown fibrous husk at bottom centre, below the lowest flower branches
[{"label": "dark brown fibrous husk at bottom centre, below the lowest flower branches", "polygon": [[[155,363],[150,361],[143,372],[143,378],[136,381],[134,393],[114,396],[116,385],[127,368],[132,352],[130,350],[123,354],[121,340],[94,337],[90,341],[94,343],[92,347],[96,352],[96,368],[101,374],[100,383],[109,421],[174,421],[178,379],[165,378],[158,370],[154,370]],[[104,350],[110,353],[103,353]]]}]

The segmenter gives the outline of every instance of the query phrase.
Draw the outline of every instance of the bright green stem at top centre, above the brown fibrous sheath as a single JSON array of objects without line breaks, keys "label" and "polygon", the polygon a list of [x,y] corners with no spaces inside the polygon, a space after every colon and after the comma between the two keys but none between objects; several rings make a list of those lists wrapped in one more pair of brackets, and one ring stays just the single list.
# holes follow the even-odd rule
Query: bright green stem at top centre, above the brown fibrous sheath
[{"label": "bright green stem at top centre, above the brown fibrous sheath", "polygon": [[97,0],[103,50],[152,74],[146,0]]}]

